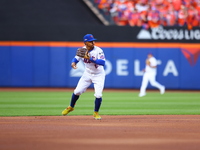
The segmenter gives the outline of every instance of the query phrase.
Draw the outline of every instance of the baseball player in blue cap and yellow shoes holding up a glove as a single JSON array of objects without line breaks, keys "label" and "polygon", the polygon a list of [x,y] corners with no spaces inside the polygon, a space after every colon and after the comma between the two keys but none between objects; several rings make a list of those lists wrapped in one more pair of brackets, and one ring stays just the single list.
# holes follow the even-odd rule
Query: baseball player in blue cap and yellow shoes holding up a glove
[{"label": "baseball player in blue cap and yellow shoes holding up a glove", "polygon": [[95,40],[96,39],[92,34],[86,34],[83,37],[85,46],[79,48],[76,56],[72,59],[71,67],[73,69],[77,68],[76,64],[79,61],[83,61],[85,64],[85,71],[72,94],[70,105],[62,111],[63,115],[67,115],[69,112],[74,110],[75,103],[79,99],[80,95],[84,93],[86,89],[93,83],[95,91],[93,117],[95,119],[101,119],[101,116],[99,115],[99,109],[102,102],[102,92],[105,81],[105,55],[101,48],[95,46]]}]

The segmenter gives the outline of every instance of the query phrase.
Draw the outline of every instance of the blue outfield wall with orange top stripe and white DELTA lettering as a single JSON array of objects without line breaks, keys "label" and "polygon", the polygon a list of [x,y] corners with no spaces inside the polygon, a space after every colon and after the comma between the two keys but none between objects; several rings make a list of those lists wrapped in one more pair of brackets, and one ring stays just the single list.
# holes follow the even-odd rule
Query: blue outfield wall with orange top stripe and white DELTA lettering
[{"label": "blue outfield wall with orange top stripe and white DELTA lettering", "polygon": [[[82,43],[0,44],[1,87],[72,87],[83,73],[70,64]],[[148,53],[158,59],[157,81],[167,89],[200,89],[198,44],[97,43],[106,55],[105,88],[139,89]],[[151,85],[149,88],[154,89]]]}]

